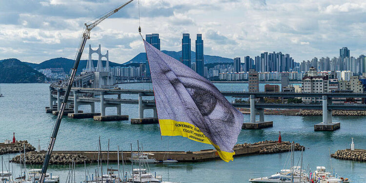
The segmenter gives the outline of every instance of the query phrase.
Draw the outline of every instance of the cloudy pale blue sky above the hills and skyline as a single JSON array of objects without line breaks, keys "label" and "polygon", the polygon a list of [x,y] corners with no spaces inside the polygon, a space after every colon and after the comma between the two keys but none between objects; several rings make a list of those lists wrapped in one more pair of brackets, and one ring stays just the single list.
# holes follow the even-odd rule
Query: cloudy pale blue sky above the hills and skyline
[{"label": "cloudy pale blue sky above the hills and skyline", "polygon": [[[0,60],[74,59],[84,23],[126,1],[0,0]],[[118,63],[144,52],[138,3],[102,21],[85,47],[101,44]],[[190,33],[192,51],[202,34],[205,55],[227,58],[281,51],[300,62],[338,57],[341,47],[366,54],[365,0],[140,0],[140,22],[143,37],[160,34],[161,50],[180,51]]]}]

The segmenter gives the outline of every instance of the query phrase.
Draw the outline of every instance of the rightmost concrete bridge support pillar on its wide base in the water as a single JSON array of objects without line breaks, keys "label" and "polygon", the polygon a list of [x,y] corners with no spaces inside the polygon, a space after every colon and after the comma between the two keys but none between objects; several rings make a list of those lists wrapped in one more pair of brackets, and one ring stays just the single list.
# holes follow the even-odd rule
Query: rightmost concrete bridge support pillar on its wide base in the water
[{"label": "rightmost concrete bridge support pillar on its wide base in the water", "polygon": [[314,130],[327,130],[334,131],[341,128],[340,122],[332,122],[332,110],[328,110],[328,97],[326,95],[323,96],[323,122],[315,124]]}]

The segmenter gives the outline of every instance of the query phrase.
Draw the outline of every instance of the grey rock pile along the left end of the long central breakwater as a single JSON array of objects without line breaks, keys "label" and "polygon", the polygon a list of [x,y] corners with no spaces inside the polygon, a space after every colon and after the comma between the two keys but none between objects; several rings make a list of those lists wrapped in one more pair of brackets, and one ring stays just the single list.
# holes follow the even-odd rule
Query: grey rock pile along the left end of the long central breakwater
[{"label": "grey rock pile along the left end of the long central breakwater", "polygon": [[[25,163],[27,164],[42,164],[44,161],[45,153],[26,153],[25,154]],[[11,161],[15,163],[20,163],[20,157],[21,160],[24,160],[24,155],[21,156],[18,155],[14,157]],[[75,162],[77,164],[81,163],[90,163],[91,160],[82,155],[82,154],[54,154],[52,153],[50,164],[70,164],[72,162]]]}]

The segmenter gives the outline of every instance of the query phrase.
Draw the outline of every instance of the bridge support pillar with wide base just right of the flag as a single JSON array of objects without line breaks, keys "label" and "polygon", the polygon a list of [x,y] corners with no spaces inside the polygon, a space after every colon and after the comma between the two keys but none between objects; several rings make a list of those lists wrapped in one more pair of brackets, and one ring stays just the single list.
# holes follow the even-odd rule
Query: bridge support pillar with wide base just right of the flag
[{"label": "bridge support pillar with wide base just right of the flag", "polygon": [[[255,108],[255,96],[250,95],[250,122],[244,122],[242,128],[243,129],[261,129],[261,128],[267,128],[272,127],[273,122],[264,121],[264,109],[256,109]],[[255,114],[256,112],[259,112],[259,121],[255,121]]]}]

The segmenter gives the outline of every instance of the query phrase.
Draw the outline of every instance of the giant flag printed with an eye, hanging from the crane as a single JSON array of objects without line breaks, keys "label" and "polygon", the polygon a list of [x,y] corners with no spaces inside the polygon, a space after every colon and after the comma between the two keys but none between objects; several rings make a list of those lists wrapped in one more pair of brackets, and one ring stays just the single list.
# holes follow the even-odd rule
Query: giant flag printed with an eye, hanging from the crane
[{"label": "giant flag printed with an eye, hanging from the crane", "polygon": [[233,160],[243,114],[210,81],[143,42],[162,136],[212,144],[225,162]]}]

